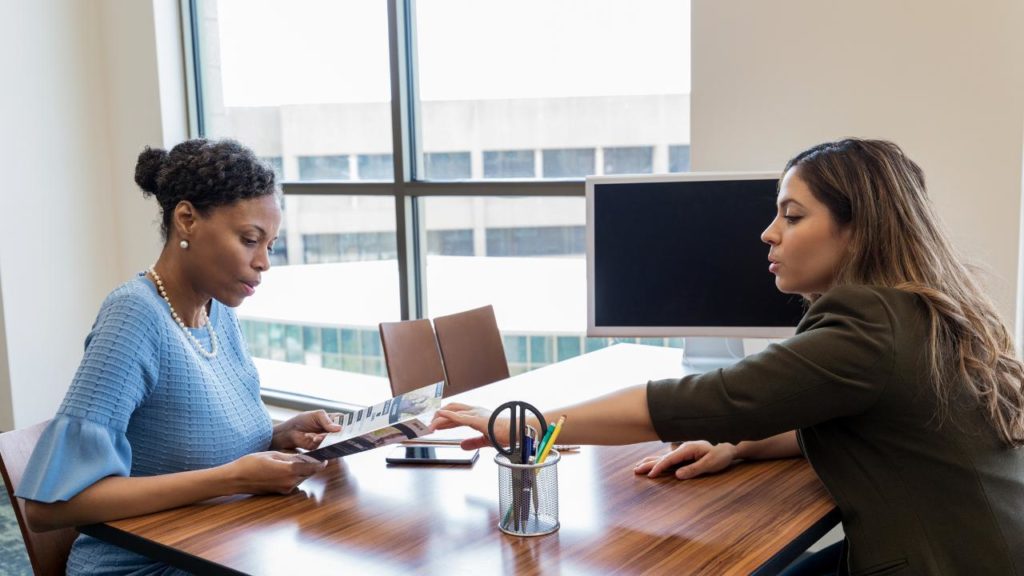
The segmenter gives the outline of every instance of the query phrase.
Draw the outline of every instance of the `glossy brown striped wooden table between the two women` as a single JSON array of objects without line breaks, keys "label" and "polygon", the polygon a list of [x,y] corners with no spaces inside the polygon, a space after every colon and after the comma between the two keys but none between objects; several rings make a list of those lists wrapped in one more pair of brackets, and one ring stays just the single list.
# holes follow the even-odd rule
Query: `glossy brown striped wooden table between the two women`
[{"label": "glossy brown striped wooden table between the two women", "polygon": [[[679,351],[620,344],[458,399],[547,409],[680,372]],[[497,528],[494,450],[471,467],[387,466],[389,450],[334,460],[289,496],[222,498],[81,530],[198,573],[771,574],[839,521],[802,459],[650,480],[632,471],[665,450],[649,443],[564,454],[560,530],[512,537]]]}]

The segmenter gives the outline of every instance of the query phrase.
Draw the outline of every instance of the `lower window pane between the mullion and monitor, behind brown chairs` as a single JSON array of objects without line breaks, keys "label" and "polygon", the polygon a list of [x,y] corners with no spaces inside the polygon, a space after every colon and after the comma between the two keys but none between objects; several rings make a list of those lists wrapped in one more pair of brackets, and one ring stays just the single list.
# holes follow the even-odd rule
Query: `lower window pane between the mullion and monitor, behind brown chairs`
[{"label": "lower window pane between the mullion and monitor, behind brown chairs", "polygon": [[[584,198],[420,202],[428,239],[428,317],[494,305],[512,373],[581,354],[587,329]],[[440,235],[457,239],[447,245],[457,249],[430,249],[430,239]]]}]

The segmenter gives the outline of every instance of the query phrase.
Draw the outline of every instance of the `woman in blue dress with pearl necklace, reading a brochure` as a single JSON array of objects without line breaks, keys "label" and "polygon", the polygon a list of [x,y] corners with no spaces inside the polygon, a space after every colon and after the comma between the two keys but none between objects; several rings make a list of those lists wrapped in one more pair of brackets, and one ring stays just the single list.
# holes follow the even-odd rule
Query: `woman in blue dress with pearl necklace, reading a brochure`
[{"label": "woman in blue dress with pearl necklace, reading a brochure", "polygon": [[[323,410],[272,425],[231,310],[281,227],[273,172],[233,140],[146,148],[135,181],[163,250],[103,301],[85,355],[17,490],[33,530],[109,522],[228,494],[289,493],[324,468],[279,450],[340,427]],[[69,574],[170,567],[82,535]]]}]

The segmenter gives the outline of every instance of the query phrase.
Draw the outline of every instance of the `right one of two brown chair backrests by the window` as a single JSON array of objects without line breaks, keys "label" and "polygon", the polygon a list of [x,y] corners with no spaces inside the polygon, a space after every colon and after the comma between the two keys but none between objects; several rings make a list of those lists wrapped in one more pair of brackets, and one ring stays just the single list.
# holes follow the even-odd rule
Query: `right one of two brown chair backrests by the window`
[{"label": "right one of two brown chair backrests by the window", "polygon": [[509,364],[493,306],[437,317],[434,330],[447,376],[444,396],[509,377]]}]

